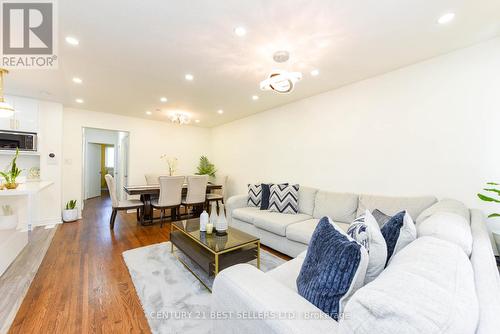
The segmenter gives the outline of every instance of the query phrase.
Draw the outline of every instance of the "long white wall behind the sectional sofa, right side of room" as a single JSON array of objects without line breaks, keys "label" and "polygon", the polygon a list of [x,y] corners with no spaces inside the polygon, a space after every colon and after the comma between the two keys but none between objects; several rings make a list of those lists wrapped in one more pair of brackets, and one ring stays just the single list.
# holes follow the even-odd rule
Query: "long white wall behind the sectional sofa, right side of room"
[{"label": "long white wall behind the sectional sofa, right side of room", "polygon": [[212,153],[230,194],[289,181],[477,207],[500,181],[499,129],[497,38],[215,127]]}]

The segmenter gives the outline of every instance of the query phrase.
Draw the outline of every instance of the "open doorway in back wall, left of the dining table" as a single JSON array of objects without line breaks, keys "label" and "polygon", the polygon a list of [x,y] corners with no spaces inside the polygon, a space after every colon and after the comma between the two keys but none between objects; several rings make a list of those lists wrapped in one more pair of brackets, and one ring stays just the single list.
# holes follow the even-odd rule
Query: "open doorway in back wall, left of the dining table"
[{"label": "open doorway in back wall, left of the dining table", "polygon": [[125,199],[128,184],[128,138],[125,131],[83,129],[83,196],[108,196],[105,175],[115,178],[118,199]]}]

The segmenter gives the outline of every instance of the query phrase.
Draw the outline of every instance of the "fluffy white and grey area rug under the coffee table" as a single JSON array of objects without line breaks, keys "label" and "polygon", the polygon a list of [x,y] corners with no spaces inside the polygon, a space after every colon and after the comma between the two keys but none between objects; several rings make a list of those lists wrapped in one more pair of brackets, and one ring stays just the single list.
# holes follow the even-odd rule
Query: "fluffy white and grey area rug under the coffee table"
[{"label": "fluffy white and grey area rug under the coffee table", "polygon": [[[178,249],[176,254],[189,261]],[[262,249],[260,256],[264,272],[285,262]],[[128,250],[123,258],[153,333],[210,333],[211,293],[170,253],[170,242]],[[205,275],[208,286],[212,281]]]}]

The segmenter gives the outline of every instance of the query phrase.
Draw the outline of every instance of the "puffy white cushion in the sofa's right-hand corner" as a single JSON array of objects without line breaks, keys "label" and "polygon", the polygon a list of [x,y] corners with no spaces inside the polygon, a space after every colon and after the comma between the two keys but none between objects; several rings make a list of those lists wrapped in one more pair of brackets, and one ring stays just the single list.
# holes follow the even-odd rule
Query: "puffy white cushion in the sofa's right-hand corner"
[{"label": "puffy white cushion in the sofa's right-hand corner", "polygon": [[462,248],[467,256],[472,253],[472,233],[469,222],[461,215],[437,212],[417,224],[418,237],[434,237],[450,241]]}]

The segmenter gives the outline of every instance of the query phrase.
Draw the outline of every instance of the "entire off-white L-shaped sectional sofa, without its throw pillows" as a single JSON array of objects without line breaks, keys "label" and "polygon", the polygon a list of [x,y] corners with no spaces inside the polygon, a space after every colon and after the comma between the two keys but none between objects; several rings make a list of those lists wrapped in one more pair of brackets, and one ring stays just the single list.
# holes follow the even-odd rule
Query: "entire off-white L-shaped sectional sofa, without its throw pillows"
[{"label": "entire off-white L-shaped sectional sofa, without its throw pillows", "polygon": [[[297,257],[267,273],[249,264],[223,270],[213,286],[214,333],[500,331],[500,277],[482,212],[457,201],[436,203],[433,197],[358,196],[309,188],[303,188],[300,196],[307,200],[293,218],[247,208],[246,196],[228,200],[232,226]],[[450,234],[461,238],[457,242],[447,234],[419,236],[395,254],[379,277],[354,293],[337,322],[298,294],[296,279],[318,219],[328,215],[346,227],[365,208],[387,214],[406,209],[416,220],[417,231],[427,217],[453,212],[467,220],[467,233]],[[446,233],[442,228],[437,231]],[[459,247],[467,237],[470,256]]]}]

